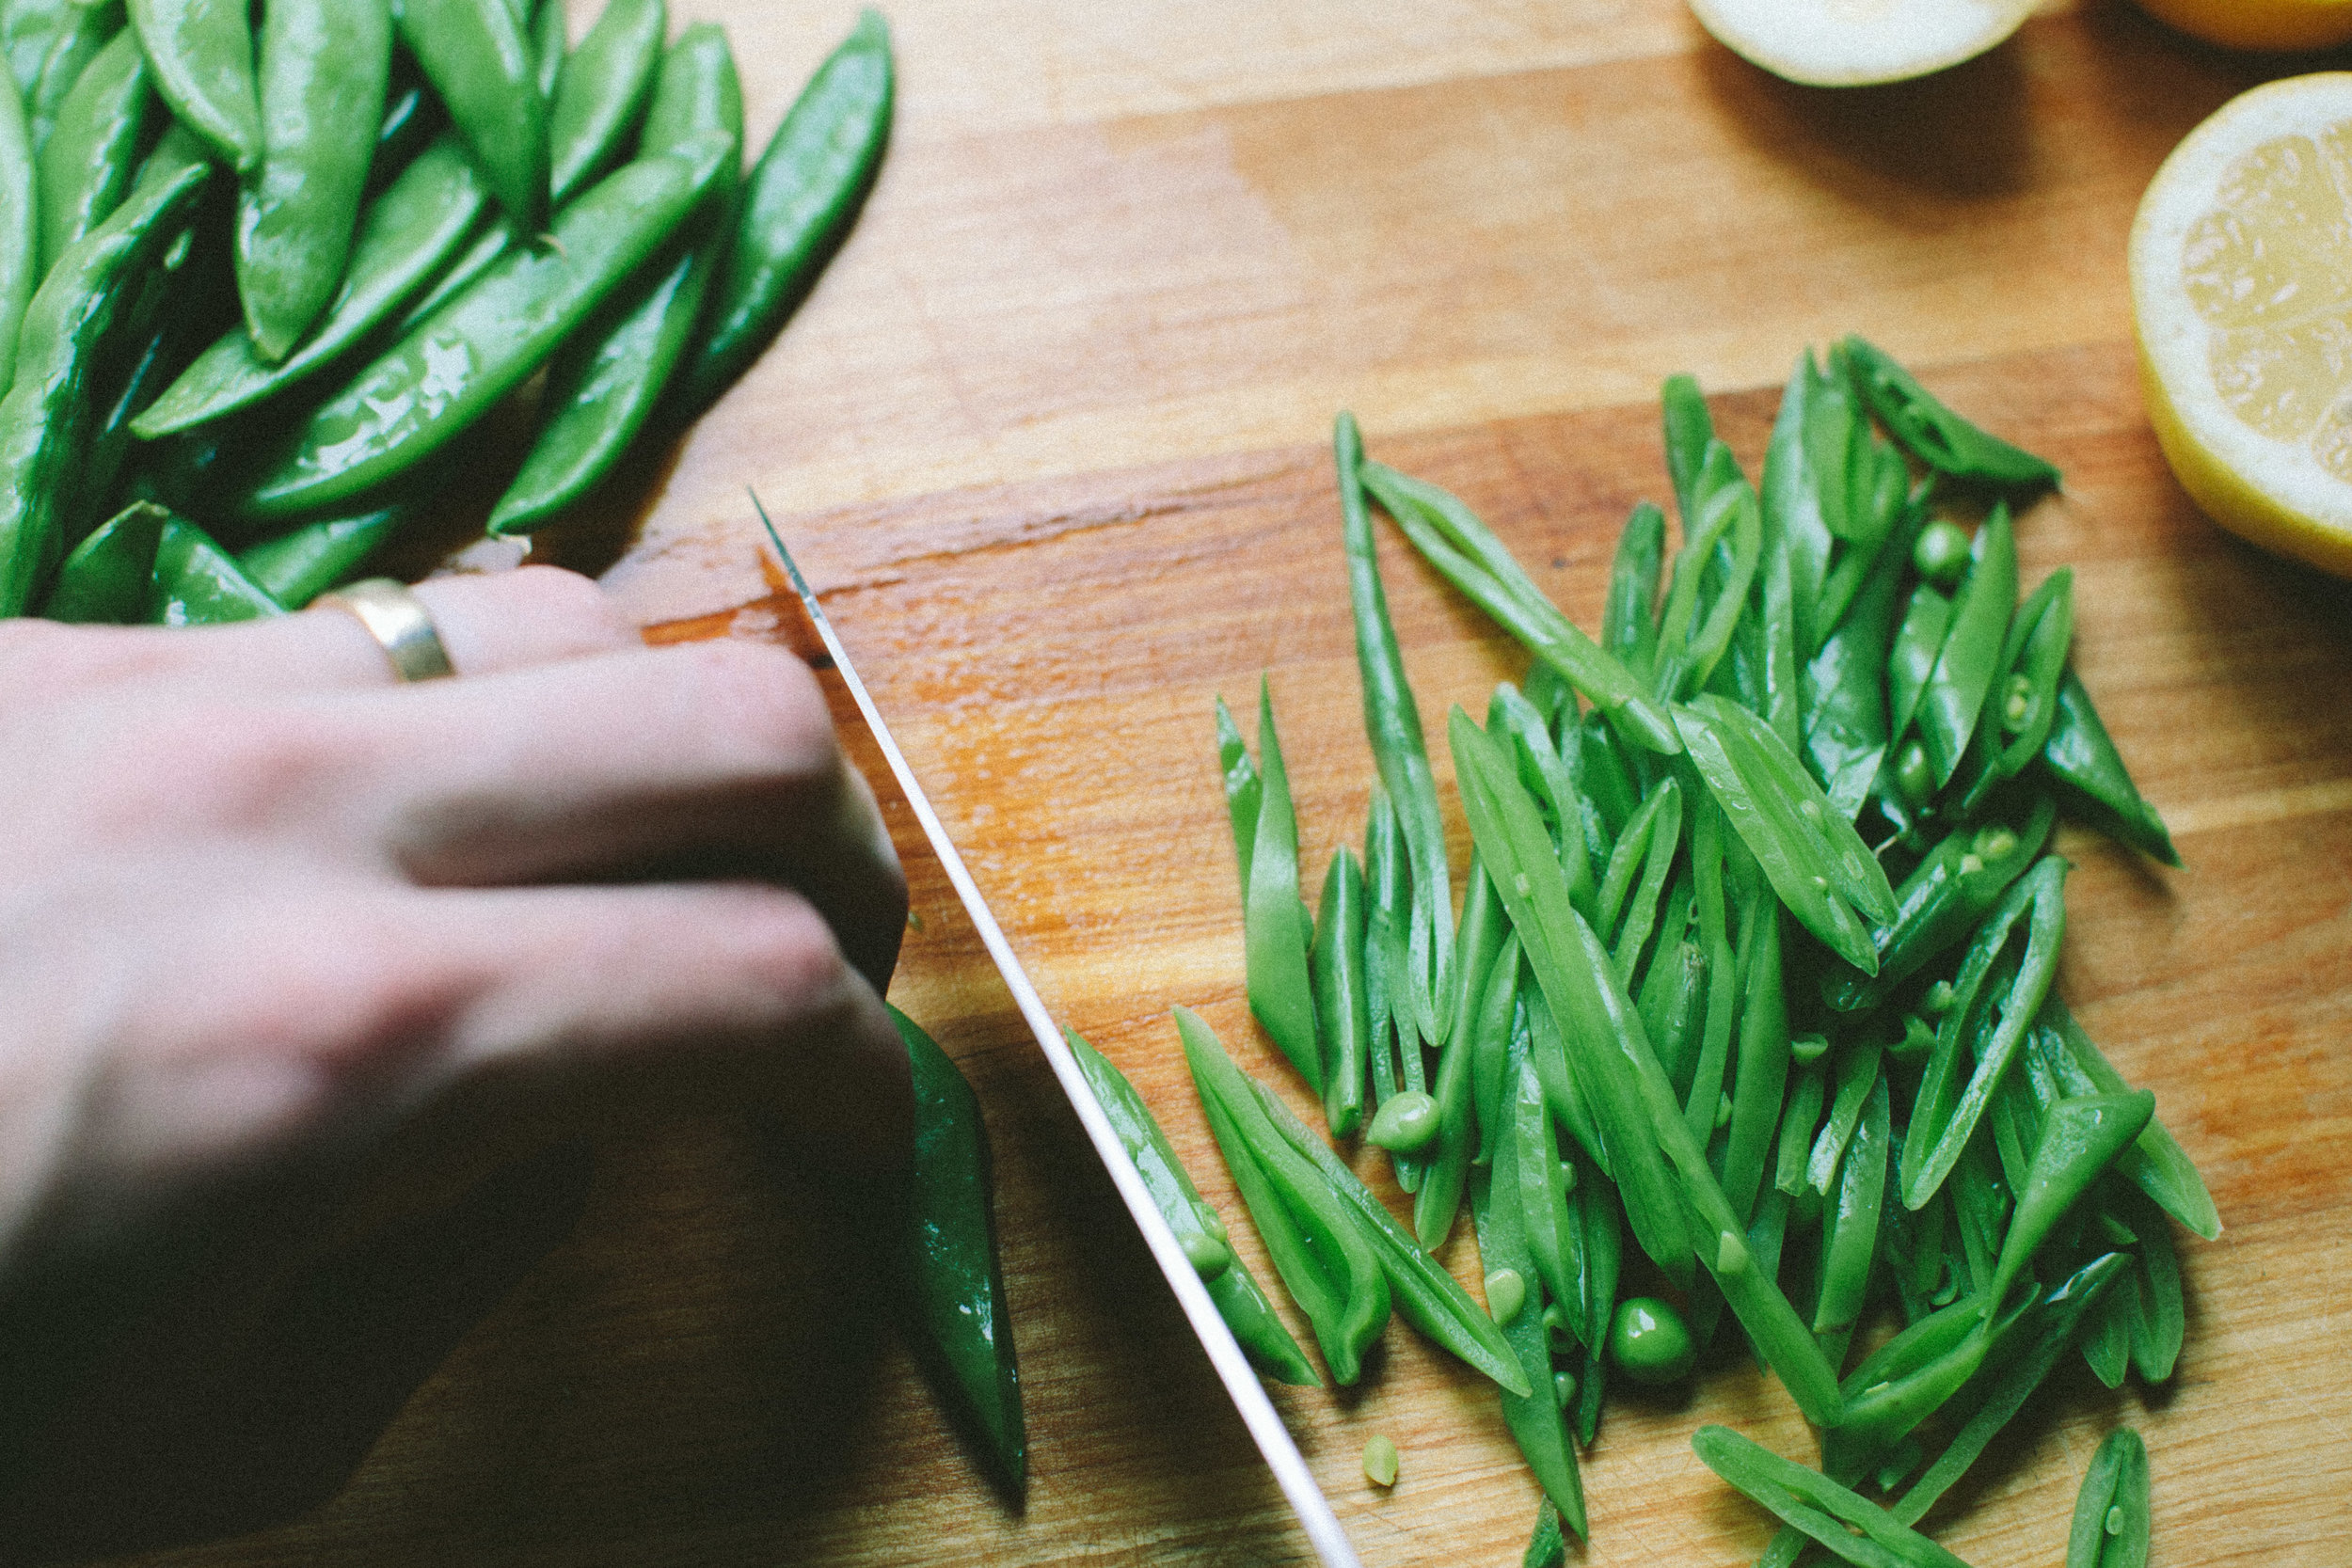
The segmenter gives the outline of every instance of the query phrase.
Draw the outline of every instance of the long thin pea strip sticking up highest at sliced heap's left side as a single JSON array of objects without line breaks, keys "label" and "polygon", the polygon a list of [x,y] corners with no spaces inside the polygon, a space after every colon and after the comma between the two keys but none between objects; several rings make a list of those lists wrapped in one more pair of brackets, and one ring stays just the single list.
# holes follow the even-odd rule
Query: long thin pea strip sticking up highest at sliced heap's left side
[{"label": "long thin pea strip sticking up highest at sliced heap's left side", "polygon": [[[1331,425],[1331,454],[1338,465],[1341,536],[1348,550],[1348,602],[1355,611],[1355,665],[1364,684],[1364,738],[1371,762],[1397,813],[1411,875],[1411,919],[1404,924],[1409,966],[1390,987],[1399,1020],[1409,1018],[1421,1039],[1442,1046],[1454,1023],[1454,875],[1446,867],[1444,818],[1437,813],[1437,778],[1421,733],[1421,708],[1404,679],[1404,654],[1397,628],[1388,618],[1388,592],[1381,588],[1381,557],[1371,541],[1371,512],[1364,505],[1364,440],[1355,414],[1341,414]],[[1409,1009],[1409,1011],[1406,1011]],[[1404,1037],[1406,1056],[1418,1046]]]}]

